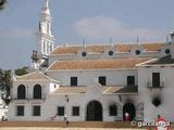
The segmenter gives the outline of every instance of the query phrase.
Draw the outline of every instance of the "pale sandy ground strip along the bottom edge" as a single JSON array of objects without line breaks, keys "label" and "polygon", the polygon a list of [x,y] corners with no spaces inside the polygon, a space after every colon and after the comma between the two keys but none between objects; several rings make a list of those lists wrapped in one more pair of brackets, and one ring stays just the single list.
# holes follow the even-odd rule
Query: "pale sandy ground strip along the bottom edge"
[{"label": "pale sandy ground strip along the bottom edge", "polygon": [[0,130],[146,130],[146,129],[109,129],[109,128],[0,128]]}]

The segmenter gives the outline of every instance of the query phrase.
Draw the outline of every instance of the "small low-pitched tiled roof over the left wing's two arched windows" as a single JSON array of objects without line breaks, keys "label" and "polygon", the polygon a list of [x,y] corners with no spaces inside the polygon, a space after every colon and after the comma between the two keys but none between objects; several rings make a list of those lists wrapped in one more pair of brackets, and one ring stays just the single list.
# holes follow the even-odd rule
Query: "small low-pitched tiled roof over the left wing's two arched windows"
[{"label": "small low-pitched tiled roof over the left wing's two arched windows", "polygon": [[[48,76],[46,76],[44,73],[41,72],[34,72],[30,74],[26,74],[24,76],[16,76],[15,77],[17,81],[33,81],[33,80],[52,80],[52,81],[57,81]],[[57,81],[59,82],[59,81]]]}]

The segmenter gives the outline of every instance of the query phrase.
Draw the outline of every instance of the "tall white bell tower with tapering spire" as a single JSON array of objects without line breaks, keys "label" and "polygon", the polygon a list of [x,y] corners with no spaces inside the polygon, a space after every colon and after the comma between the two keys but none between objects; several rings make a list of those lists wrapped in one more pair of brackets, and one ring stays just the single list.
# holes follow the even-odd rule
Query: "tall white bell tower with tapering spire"
[{"label": "tall white bell tower with tapering spire", "polygon": [[54,37],[51,32],[51,24],[52,17],[50,15],[49,0],[45,0],[37,32],[37,52],[40,58],[40,66],[48,64],[48,55],[53,50]]}]

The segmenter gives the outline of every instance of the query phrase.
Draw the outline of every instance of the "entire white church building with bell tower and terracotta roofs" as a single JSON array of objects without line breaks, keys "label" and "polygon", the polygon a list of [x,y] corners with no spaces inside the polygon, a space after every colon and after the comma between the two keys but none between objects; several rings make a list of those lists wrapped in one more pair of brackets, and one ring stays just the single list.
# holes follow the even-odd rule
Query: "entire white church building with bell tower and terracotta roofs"
[{"label": "entire white church building with bell tower and terracotta roofs", "polygon": [[174,121],[174,34],[166,43],[59,46],[48,0],[41,11],[36,70],[16,77],[9,120]]}]

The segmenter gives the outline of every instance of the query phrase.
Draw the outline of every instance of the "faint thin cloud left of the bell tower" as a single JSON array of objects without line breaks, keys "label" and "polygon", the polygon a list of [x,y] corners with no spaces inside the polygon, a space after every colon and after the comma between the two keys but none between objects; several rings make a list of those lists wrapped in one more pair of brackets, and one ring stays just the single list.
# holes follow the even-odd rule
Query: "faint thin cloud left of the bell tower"
[{"label": "faint thin cloud left of the bell tower", "polygon": [[5,38],[30,38],[34,36],[34,31],[26,28],[8,28],[0,30],[0,37]]}]

